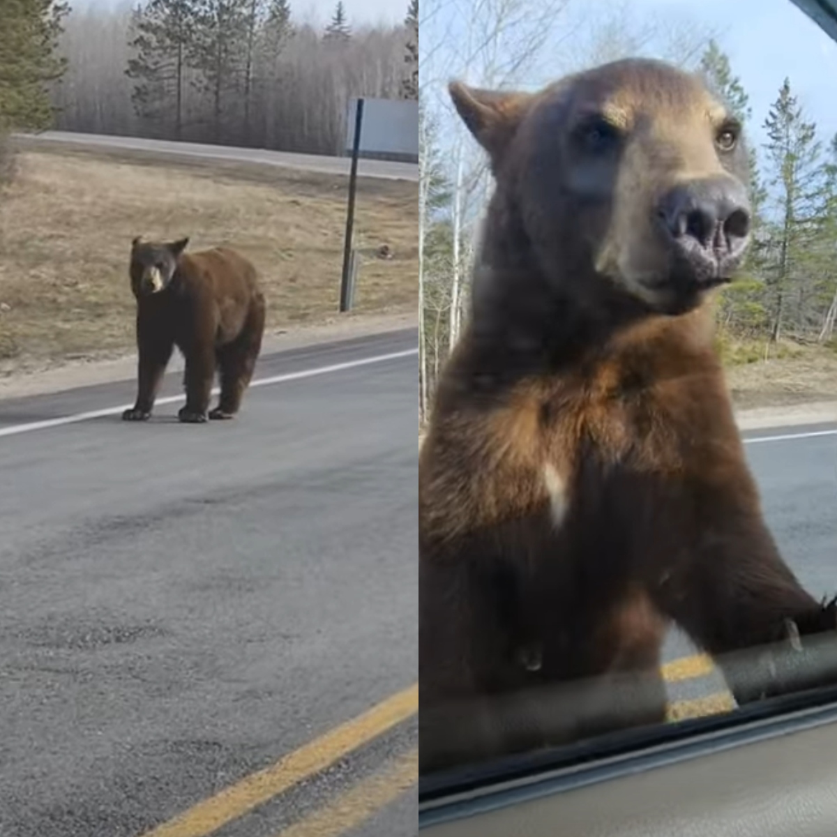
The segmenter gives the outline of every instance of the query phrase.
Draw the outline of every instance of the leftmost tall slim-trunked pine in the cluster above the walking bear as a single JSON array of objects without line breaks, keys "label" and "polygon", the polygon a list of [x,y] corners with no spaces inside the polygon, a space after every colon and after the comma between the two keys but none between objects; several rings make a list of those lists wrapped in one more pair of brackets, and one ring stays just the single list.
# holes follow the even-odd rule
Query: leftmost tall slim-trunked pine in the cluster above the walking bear
[{"label": "leftmost tall slim-trunked pine in the cluster above the walking bear", "polygon": [[135,80],[131,100],[141,116],[170,117],[174,136],[183,130],[183,93],[190,44],[198,23],[196,0],[149,0],[131,21],[126,75]]}]

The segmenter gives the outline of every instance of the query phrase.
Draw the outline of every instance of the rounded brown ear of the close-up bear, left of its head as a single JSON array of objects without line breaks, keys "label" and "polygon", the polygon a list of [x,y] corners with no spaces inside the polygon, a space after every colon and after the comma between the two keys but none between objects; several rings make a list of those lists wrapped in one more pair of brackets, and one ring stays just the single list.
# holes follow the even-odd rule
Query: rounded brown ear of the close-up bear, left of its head
[{"label": "rounded brown ear of the close-up bear, left of its head", "polygon": [[450,82],[448,90],[468,130],[488,151],[491,162],[498,162],[534,96],[517,91],[481,90],[461,81]]}]

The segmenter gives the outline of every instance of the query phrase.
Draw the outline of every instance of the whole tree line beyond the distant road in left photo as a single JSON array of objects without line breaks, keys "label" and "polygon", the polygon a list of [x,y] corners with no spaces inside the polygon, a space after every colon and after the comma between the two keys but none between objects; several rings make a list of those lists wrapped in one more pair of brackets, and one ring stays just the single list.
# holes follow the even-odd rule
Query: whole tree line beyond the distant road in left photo
[{"label": "whole tree line beyond the distant road in left photo", "polygon": [[0,120],[341,153],[352,97],[418,98],[418,15],[353,29],[339,0],[319,28],[289,0],[3,0]]}]

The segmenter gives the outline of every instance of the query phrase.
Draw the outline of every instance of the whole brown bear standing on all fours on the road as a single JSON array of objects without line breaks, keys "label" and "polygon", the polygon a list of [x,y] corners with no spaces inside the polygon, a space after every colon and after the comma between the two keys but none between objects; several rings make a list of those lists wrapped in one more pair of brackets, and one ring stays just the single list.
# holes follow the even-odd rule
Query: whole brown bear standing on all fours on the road
[{"label": "whole brown bear standing on all fours on the road", "polygon": [[[182,422],[232,419],[253,376],[265,316],[256,270],[223,247],[184,253],[188,241],[131,244],[139,381],[134,407],[122,413],[126,421],[151,416],[174,347],[186,361]],[[221,395],[207,413],[216,369]]]}]

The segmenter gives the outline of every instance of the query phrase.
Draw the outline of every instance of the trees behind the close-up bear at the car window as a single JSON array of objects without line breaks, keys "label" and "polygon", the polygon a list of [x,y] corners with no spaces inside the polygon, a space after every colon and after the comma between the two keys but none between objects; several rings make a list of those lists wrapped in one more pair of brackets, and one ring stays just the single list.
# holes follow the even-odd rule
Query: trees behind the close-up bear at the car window
[{"label": "trees behind the close-up bear at the car window", "polygon": [[[474,0],[482,2],[482,0]],[[525,0],[519,0],[525,8]],[[504,35],[496,20],[497,38]],[[648,30],[650,32],[650,29]],[[629,54],[648,53],[625,28],[603,27],[567,70]],[[753,243],[736,281],[721,290],[716,308],[719,347],[747,347],[747,360],[771,357],[788,341],[834,344],[837,320],[837,136],[819,136],[786,79],[768,113],[754,115],[747,91],[716,40],[668,31],[666,59],[700,73],[745,125],[760,116],[767,135],[751,148]],[[646,36],[650,40],[650,34]],[[521,54],[529,47],[520,44]],[[698,47],[696,49],[696,47]],[[434,51],[438,45],[424,49]],[[531,53],[531,47],[528,51]],[[660,49],[654,50],[660,54]],[[593,60],[594,58],[594,60]],[[474,71],[476,66],[477,72]],[[445,68],[451,74],[449,68]],[[497,79],[472,62],[470,83],[514,86],[520,75]],[[455,69],[454,74],[462,70]],[[428,85],[439,80],[422,70]],[[480,76],[483,76],[480,78]],[[499,82],[499,84],[498,84]],[[465,284],[490,177],[475,144],[449,121],[449,106],[421,92],[419,110],[419,309],[421,360],[419,414],[426,415],[439,367],[457,341],[466,315]],[[431,106],[434,105],[434,106]],[[752,135],[752,131],[749,132]],[[465,148],[465,151],[463,151]]]}]

